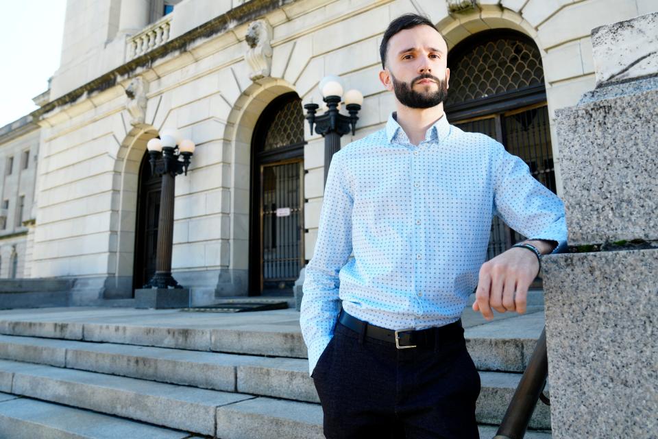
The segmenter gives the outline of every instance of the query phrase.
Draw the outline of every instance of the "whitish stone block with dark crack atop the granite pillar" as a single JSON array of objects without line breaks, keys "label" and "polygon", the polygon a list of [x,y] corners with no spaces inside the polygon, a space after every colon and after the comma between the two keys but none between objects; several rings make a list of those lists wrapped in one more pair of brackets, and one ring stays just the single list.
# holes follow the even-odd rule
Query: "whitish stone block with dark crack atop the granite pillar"
[{"label": "whitish stone block with dark crack atop the granite pillar", "polygon": [[596,86],[658,73],[658,12],[592,31]]}]

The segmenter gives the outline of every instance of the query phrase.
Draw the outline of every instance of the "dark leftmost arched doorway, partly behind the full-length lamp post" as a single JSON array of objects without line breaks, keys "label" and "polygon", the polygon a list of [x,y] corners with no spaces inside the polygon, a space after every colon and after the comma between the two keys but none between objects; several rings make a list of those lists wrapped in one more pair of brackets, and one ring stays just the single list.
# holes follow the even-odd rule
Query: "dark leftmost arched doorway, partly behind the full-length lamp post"
[{"label": "dark leftmost arched doorway, partly behind the full-length lamp post", "polygon": [[162,178],[151,175],[149,154],[145,152],[139,165],[137,219],[135,226],[135,259],[132,291],[143,287],[156,272],[158,218]]}]

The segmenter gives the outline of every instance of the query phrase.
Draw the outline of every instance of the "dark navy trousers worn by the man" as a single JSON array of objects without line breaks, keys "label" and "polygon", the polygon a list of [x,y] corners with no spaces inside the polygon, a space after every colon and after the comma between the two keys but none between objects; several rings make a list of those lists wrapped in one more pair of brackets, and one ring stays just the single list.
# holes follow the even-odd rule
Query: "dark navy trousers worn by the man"
[{"label": "dark navy trousers worn by the man", "polygon": [[457,333],[398,349],[338,323],[313,371],[325,436],[479,439],[480,376]]}]

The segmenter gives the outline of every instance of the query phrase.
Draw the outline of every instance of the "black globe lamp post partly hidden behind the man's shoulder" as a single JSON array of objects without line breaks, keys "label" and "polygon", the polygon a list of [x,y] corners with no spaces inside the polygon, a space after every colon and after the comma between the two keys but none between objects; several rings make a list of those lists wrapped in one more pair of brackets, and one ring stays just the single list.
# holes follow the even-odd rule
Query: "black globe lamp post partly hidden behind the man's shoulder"
[{"label": "black globe lamp post partly hidden behind the man's shoulder", "polygon": [[358,90],[350,90],[345,93],[345,108],[350,113],[349,116],[341,115],[340,102],[343,99],[343,84],[338,76],[326,76],[320,81],[319,88],[326,102],[326,111],[319,116],[315,113],[319,108],[318,104],[306,104],[306,120],[310,125],[310,132],[313,134],[313,125],[315,132],[322,134],[324,137],[324,182],[327,182],[329,165],[334,153],[341,149],[341,137],[356,130],[356,121],[358,120],[358,110],[361,110],[363,104],[363,95]]}]

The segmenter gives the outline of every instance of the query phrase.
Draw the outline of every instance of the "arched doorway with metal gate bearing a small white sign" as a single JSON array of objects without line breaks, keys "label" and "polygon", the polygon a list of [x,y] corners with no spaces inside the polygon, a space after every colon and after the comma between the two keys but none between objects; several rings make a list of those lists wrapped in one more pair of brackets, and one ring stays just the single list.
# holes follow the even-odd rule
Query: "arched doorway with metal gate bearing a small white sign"
[{"label": "arched doorway with metal gate bearing a small white sign", "polygon": [[252,137],[249,295],[292,295],[304,265],[304,111],[274,99]]}]

